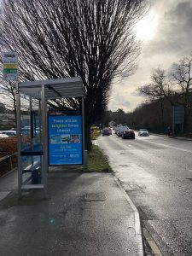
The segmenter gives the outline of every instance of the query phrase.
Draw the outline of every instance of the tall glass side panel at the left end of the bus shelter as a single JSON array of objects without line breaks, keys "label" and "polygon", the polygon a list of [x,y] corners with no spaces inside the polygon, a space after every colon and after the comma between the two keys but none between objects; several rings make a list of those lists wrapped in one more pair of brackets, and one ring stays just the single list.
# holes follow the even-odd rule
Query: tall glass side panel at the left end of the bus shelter
[{"label": "tall glass side panel at the left end of the bus shelter", "polygon": [[[26,91],[27,93],[27,91]],[[41,91],[20,94],[21,189],[43,184]]]}]

